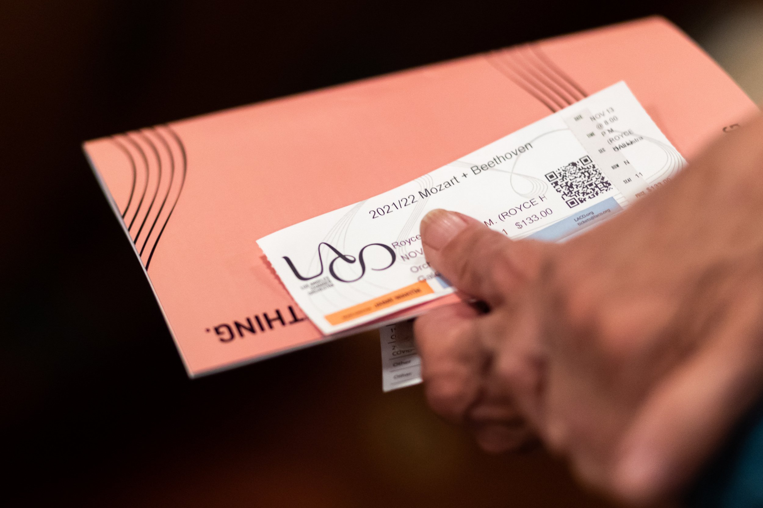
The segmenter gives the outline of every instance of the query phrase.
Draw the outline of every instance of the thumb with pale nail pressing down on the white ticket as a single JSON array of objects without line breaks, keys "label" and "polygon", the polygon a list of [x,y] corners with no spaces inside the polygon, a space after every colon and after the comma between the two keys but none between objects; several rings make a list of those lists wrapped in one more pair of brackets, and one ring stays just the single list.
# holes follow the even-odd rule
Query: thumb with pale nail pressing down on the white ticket
[{"label": "thumb with pale nail pressing down on the white ticket", "polygon": [[541,243],[512,242],[463,214],[430,211],[420,230],[427,261],[459,291],[491,306],[540,266]]}]

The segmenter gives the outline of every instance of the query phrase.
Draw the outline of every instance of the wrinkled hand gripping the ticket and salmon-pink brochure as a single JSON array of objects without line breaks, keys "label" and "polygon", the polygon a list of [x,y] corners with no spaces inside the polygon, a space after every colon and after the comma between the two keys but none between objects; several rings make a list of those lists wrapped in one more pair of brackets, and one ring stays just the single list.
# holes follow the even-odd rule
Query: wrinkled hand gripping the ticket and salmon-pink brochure
[{"label": "wrinkled hand gripping the ticket and salmon-pink brochure", "polygon": [[427,399],[489,452],[537,436],[582,481],[671,500],[763,392],[763,119],[566,243],[436,210],[427,260],[465,296],[415,324]]}]

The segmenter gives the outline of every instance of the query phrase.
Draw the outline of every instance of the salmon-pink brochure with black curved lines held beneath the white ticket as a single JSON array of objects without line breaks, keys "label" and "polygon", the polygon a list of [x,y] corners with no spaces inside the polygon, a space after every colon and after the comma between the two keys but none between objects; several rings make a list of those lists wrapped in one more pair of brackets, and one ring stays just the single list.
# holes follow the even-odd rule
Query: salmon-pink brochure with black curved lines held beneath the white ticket
[{"label": "salmon-pink brochure with black curved lines held beneath the white ticket", "polygon": [[621,80],[690,162],[757,111],[685,34],[648,18],[117,134],[85,153],[195,376],[333,338],[257,239]]}]

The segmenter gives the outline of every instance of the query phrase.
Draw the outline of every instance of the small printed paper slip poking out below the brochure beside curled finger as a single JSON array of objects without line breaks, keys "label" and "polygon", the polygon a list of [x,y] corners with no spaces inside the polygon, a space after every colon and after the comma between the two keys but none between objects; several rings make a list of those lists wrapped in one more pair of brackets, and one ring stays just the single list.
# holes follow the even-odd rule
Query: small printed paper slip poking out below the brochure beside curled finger
[{"label": "small printed paper slip poking out below the brochure beside curled finger", "polygon": [[401,321],[379,329],[381,388],[387,392],[421,382],[421,358],[414,343],[414,322]]}]

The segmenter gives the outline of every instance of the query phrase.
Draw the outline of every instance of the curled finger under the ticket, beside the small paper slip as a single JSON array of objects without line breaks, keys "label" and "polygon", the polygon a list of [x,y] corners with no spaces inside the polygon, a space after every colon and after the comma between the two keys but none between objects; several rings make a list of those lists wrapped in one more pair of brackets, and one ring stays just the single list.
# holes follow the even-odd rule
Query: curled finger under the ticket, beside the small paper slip
[{"label": "curled finger under the ticket, beside the small paper slip", "polygon": [[478,311],[465,303],[439,307],[414,322],[421,378],[432,409],[462,422],[477,399],[488,353],[474,334]]}]

